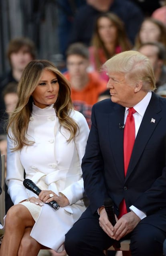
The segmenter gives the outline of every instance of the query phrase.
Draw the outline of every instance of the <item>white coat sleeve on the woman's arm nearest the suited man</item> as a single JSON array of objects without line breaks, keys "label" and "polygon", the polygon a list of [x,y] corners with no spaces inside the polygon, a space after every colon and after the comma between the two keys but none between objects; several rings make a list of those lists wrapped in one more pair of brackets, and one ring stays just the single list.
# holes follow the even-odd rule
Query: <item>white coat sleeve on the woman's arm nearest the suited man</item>
[{"label": "white coat sleeve on the woman's arm nearest the suited man", "polygon": [[[87,144],[87,138],[89,135],[89,127],[87,125],[87,121],[85,120],[82,114],[78,114],[77,119],[75,120],[79,125],[79,132],[75,137],[75,146],[77,148],[77,152],[79,155],[80,166],[82,162],[82,158],[85,154],[85,147]],[[65,188],[60,193],[63,193],[69,200],[69,204],[76,203],[79,199],[82,199],[84,195],[84,186],[83,186],[83,178],[67,188]]]}]

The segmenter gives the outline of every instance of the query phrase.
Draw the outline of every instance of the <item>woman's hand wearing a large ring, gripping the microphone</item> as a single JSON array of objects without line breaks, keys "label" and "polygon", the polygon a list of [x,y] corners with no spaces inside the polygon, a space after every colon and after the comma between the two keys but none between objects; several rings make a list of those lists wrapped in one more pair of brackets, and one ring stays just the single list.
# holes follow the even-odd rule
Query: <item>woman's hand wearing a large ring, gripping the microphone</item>
[{"label": "woman's hand wearing a large ring, gripping the microphone", "polygon": [[65,195],[58,196],[51,190],[42,190],[38,195],[39,199],[44,203],[49,203],[51,201],[56,201],[60,207],[65,207],[69,205],[69,200]]}]

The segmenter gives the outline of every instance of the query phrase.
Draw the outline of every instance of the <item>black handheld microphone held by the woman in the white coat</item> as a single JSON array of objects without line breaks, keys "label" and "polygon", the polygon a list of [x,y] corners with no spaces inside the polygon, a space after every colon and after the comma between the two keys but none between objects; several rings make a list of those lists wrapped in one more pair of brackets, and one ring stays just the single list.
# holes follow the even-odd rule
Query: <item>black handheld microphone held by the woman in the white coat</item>
[{"label": "black handheld microphone held by the woman in the white coat", "polygon": [[[31,181],[30,179],[24,179],[23,185],[24,185],[24,187],[26,187],[26,189],[33,191],[36,195],[39,195],[41,192],[41,189],[39,189],[39,187],[36,186],[36,184],[33,181]],[[51,201],[48,204],[51,207],[53,207],[55,210],[58,210],[60,208],[60,206],[57,204],[56,201]]]}]

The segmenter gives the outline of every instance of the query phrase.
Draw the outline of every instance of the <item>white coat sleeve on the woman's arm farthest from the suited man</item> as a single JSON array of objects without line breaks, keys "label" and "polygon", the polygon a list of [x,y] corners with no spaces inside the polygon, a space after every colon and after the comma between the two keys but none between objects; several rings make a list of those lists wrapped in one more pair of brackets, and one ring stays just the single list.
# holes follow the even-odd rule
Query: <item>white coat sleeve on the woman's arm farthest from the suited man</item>
[{"label": "white coat sleeve on the woman's arm farthest from the suited man", "polygon": [[8,186],[8,193],[14,204],[28,198],[26,189],[23,185],[24,168],[20,162],[19,151],[12,152],[14,148],[14,141],[7,137],[7,174],[6,185]]}]

